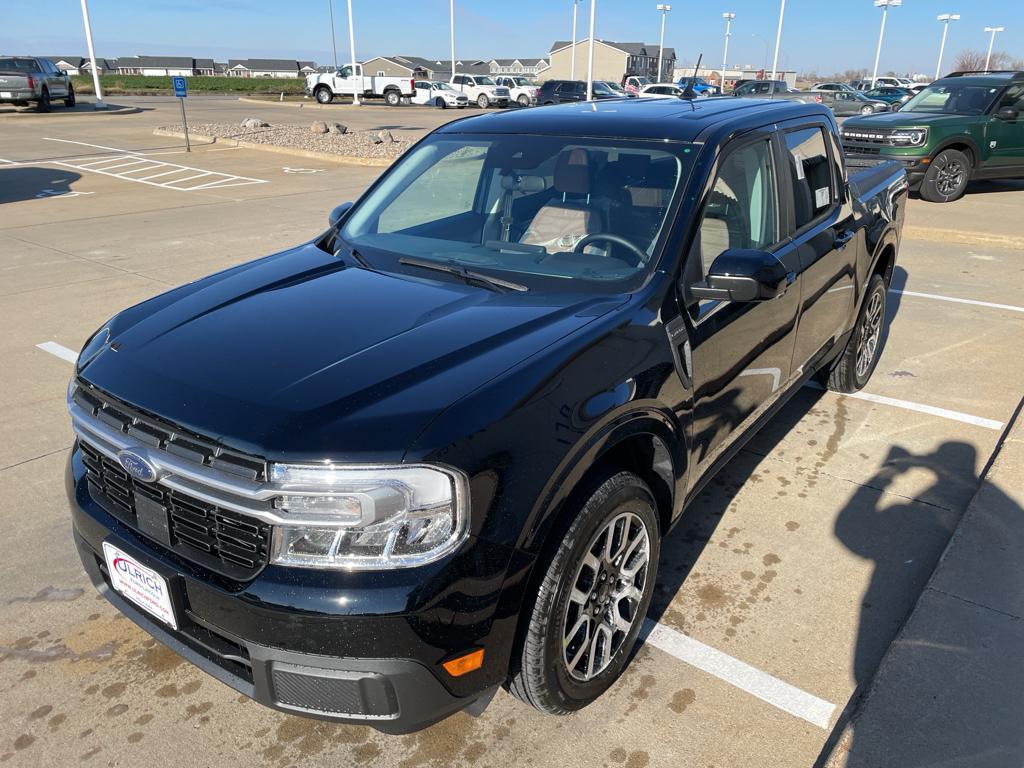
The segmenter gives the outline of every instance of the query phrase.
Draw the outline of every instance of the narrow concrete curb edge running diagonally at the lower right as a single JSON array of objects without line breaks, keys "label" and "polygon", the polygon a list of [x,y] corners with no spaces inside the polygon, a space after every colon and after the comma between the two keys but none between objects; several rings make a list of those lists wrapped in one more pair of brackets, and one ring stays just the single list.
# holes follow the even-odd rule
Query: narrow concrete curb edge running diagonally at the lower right
[{"label": "narrow concrete curb edge running diagonally at the lower right", "polygon": [[886,648],[886,652],[882,654],[882,658],[879,660],[879,666],[871,675],[870,681],[862,689],[854,691],[854,694],[850,699],[850,703],[847,705],[847,709],[840,715],[840,720],[837,721],[831,735],[822,748],[821,753],[818,755],[818,759],[814,763],[814,768],[842,767],[843,757],[850,749],[849,744],[856,729],[857,719],[870,700],[871,694],[874,692],[876,683],[879,680],[879,674],[883,669],[885,669],[886,660],[889,658],[889,654],[904,637],[907,627],[910,625],[911,618],[918,612],[918,606],[921,604],[922,597],[929,590],[931,590],[932,584],[935,582],[939,570],[942,568],[946,557],[953,547],[953,544],[959,538],[964,529],[965,520],[970,518],[970,512],[974,508],[978,496],[981,494],[985,484],[989,481],[993,474],[996,473],[996,465],[998,464],[999,457],[1002,454],[1004,446],[1008,441],[1020,442],[1022,440],[1024,440],[1024,398],[1021,398],[1011,414],[1010,419],[1007,420],[1007,424],[1004,427],[1002,432],[999,434],[999,438],[996,441],[995,446],[992,449],[992,453],[978,477],[978,487],[972,495],[971,501],[968,502],[967,506],[964,508],[964,513],[961,515],[959,520],[957,520],[956,527],[953,528],[952,534],[950,534],[949,541],[946,542],[946,546],[942,550],[942,554],[939,556],[939,559],[936,561],[931,574],[928,577],[928,581],[925,582],[925,586],[922,587],[921,593],[918,595],[918,599],[913,603],[913,607],[906,614],[906,618],[903,620],[903,624],[900,626],[899,631],[889,643],[889,646]]}]

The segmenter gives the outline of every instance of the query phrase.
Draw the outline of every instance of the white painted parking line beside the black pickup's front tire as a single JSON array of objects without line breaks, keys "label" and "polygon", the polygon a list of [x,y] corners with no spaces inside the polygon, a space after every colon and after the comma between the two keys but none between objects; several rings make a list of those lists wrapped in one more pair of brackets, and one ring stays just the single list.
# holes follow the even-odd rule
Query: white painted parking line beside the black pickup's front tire
[{"label": "white painted parking line beside the black pickup's front tire", "polygon": [[836,705],[650,618],[644,620],[644,632],[647,634],[647,644],[746,691],[782,712],[828,730]]}]

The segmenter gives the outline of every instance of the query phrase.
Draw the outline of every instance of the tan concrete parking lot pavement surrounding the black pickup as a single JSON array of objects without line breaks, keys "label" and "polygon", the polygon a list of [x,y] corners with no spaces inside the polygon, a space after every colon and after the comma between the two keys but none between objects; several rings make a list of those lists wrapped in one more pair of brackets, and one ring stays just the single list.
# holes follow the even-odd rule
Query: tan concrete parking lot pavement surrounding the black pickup
[{"label": "tan concrete parking lot pavement surrounding the black pickup", "polygon": [[[1021,396],[1024,184],[912,201],[866,390],[802,391],[663,545],[646,642],[590,708],[500,692],[402,737],[265,710],[95,595],[69,532],[63,396],[119,309],[321,231],[379,168],[153,135],[132,111],[0,110],[0,762],[17,766],[810,766],[913,606]],[[322,112],[189,99],[197,121]],[[337,108],[410,137],[464,113]],[[314,115],[314,117],[311,117]],[[335,118],[335,116],[337,116]],[[1016,212],[1016,213],[1015,213]]]}]

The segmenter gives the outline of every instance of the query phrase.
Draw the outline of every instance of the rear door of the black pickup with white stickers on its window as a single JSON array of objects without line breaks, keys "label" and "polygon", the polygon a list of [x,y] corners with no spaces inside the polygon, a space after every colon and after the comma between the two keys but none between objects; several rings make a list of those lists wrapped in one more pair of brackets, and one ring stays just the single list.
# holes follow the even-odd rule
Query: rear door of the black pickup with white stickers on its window
[{"label": "rear door of the black pickup with white stickers on its window", "polygon": [[788,201],[785,223],[801,271],[801,311],[793,370],[809,370],[853,324],[856,254],[866,248],[856,227],[830,126],[821,120],[783,124],[778,134]]}]

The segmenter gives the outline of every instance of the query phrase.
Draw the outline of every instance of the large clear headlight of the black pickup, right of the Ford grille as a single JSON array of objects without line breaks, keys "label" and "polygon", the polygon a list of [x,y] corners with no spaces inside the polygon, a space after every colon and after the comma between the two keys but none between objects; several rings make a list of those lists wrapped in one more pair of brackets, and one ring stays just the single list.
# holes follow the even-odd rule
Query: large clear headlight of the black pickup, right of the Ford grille
[{"label": "large clear headlight of the black pickup, right of the Ford grille", "polygon": [[440,467],[273,464],[274,502],[295,524],[275,527],[271,560],[309,568],[423,565],[466,538],[465,475]]}]

